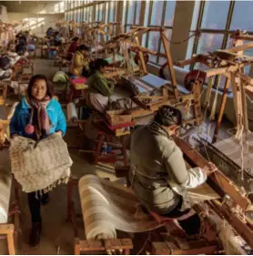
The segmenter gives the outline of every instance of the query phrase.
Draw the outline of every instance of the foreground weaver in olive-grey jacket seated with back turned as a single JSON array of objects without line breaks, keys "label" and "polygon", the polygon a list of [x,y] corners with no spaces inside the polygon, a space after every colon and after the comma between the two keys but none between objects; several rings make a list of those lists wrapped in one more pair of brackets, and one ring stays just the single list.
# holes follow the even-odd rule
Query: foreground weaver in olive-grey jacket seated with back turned
[{"label": "foreground weaver in olive-grey jacket seated with back turned", "polygon": [[[177,108],[162,106],[153,122],[133,130],[126,139],[126,148],[130,149],[129,180],[138,199],[147,210],[171,219],[189,213],[190,208],[185,208],[186,189],[201,185],[216,169],[211,163],[204,169],[186,168],[183,153],[171,137],[181,122]],[[178,223],[188,235],[200,230],[197,213]]]}]

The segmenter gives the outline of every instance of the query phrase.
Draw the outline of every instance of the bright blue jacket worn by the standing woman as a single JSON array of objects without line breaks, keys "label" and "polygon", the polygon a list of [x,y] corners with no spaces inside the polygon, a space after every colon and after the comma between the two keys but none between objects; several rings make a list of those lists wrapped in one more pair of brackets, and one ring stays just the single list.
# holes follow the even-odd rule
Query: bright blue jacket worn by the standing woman
[{"label": "bright blue jacket worn by the standing woman", "polygon": [[[46,107],[46,112],[51,120],[52,128],[49,134],[55,133],[61,130],[63,136],[66,133],[66,118],[61,105],[52,98]],[[25,132],[25,126],[30,120],[31,107],[27,103],[25,97],[22,97],[21,102],[15,107],[15,113],[10,123],[10,134],[17,134],[26,138],[33,138],[33,135],[29,135]]]}]

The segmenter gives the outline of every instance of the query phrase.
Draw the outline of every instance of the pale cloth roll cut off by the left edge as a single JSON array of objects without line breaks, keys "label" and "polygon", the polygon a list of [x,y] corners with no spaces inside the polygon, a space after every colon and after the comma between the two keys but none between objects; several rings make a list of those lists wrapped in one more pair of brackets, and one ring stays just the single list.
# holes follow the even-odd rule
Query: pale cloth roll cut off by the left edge
[{"label": "pale cloth roll cut off by the left edge", "polygon": [[[3,151],[2,151],[3,152]],[[3,158],[3,159],[2,159]],[[8,158],[1,156],[0,164],[0,223],[7,223],[11,197],[12,176]]]}]

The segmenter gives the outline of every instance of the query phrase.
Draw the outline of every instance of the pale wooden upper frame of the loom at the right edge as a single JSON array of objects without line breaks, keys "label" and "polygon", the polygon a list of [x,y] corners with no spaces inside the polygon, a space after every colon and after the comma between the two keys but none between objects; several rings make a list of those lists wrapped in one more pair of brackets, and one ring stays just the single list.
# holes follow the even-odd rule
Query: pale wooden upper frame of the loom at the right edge
[{"label": "pale wooden upper frame of the loom at the right edge", "polygon": [[[226,77],[213,142],[216,142],[218,139],[218,129],[221,125],[221,120],[224,114],[230,84],[233,90],[233,100],[237,119],[238,133],[236,137],[240,138],[243,132],[248,133],[248,109],[246,95],[247,93],[252,94],[253,81],[250,77],[244,74],[244,67],[251,65],[253,63],[253,58],[251,56],[243,55],[243,51],[252,48],[253,43],[243,45],[243,40],[248,39],[253,41],[253,36],[242,35],[238,31],[234,36],[232,36],[232,38],[234,38],[232,48],[217,50],[208,55],[200,54],[177,63],[179,67],[185,67],[197,62],[206,65],[210,69],[205,71],[203,70],[201,72],[205,74],[205,77],[207,77],[209,81],[216,76]],[[211,94],[211,88],[212,83],[208,83],[205,102],[206,108],[209,105],[208,100]]]}]

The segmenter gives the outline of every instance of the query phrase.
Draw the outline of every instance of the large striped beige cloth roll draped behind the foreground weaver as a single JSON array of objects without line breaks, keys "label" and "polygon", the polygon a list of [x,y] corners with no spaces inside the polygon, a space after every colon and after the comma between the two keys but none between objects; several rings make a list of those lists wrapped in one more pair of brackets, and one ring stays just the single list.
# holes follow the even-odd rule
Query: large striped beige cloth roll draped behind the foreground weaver
[{"label": "large striped beige cloth roll draped behind the foreground weaver", "polygon": [[159,227],[144,212],[136,217],[139,201],[132,189],[90,174],[79,180],[78,187],[86,239],[113,239],[116,230],[143,232]]}]

